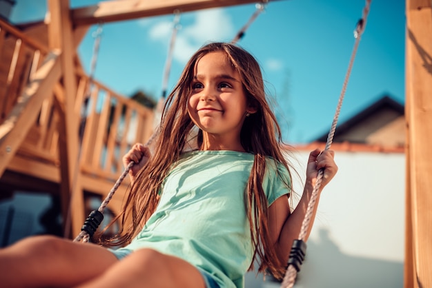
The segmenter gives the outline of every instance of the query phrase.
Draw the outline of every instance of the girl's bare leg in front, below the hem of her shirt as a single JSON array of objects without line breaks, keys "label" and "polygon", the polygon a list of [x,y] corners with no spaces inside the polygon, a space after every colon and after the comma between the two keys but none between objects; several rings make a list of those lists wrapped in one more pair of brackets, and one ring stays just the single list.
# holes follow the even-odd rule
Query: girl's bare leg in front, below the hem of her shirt
[{"label": "girl's bare leg in front, below the hem of her shirt", "polygon": [[205,284],[202,274],[186,261],[153,249],[140,249],[112,265],[99,278],[79,286],[90,287],[205,288]]}]

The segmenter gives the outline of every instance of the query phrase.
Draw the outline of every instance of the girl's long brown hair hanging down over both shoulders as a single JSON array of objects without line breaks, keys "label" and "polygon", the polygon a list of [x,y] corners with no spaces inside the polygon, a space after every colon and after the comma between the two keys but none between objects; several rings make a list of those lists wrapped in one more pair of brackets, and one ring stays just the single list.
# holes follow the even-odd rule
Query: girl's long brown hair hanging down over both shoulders
[{"label": "girl's long brown hair hanging down over both shoulders", "polygon": [[[130,188],[123,212],[116,219],[121,220],[119,235],[106,241],[108,245],[130,243],[132,237],[155,212],[157,195],[171,165],[179,160],[181,153],[188,147],[194,123],[187,111],[188,96],[195,67],[202,56],[222,51],[233,68],[239,72],[248,103],[257,108],[257,112],[246,117],[241,131],[244,150],[255,155],[248,185],[245,190],[245,206],[251,226],[254,248],[253,263],[259,261],[259,270],[268,270],[277,278],[284,275],[286,263],[281,263],[271,243],[268,233],[268,202],[262,183],[266,172],[266,159],[271,157],[275,163],[282,163],[288,169],[288,163],[282,150],[282,134],[268,101],[266,100],[264,81],[259,63],[246,50],[230,43],[209,43],[200,48],[190,58],[173,92],[166,99],[159,130],[155,138],[153,156],[137,174],[136,181]],[[202,132],[194,138],[197,147],[201,145]],[[291,175],[290,175],[291,176]],[[291,183],[286,183],[291,192]],[[251,265],[251,268],[253,266]]]}]

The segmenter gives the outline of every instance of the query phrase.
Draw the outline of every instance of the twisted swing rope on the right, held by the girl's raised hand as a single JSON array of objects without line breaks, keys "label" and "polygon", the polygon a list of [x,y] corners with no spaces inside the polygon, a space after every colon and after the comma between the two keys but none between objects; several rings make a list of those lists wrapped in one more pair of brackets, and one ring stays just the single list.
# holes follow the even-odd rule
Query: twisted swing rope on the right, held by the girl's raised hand
[{"label": "twisted swing rope on the right, held by the girl's raised hand", "polygon": [[[357,53],[357,48],[358,48],[358,45],[360,43],[360,38],[361,38],[361,35],[362,35],[364,28],[366,26],[366,18],[367,18],[367,15],[369,14],[370,5],[371,5],[371,0],[366,0],[366,6],[363,9],[362,19],[360,19],[357,22],[357,26],[356,26],[355,31],[354,31],[355,44],[354,44],[353,52],[351,54],[351,59],[350,59],[349,64],[348,64],[348,70],[347,70],[346,75],[345,75],[344,84],[342,85],[342,92],[340,94],[339,101],[337,103],[335,116],[333,118],[331,130],[328,133],[326,147],[324,148],[324,150],[328,150],[330,148],[331,144],[333,143],[333,136],[335,135],[337,119],[339,119],[339,114],[340,114],[340,110],[342,107],[342,101],[344,100],[344,96],[345,96],[345,92],[346,92],[346,86],[348,85],[348,79],[351,76],[351,69],[353,68],[355,54]],[[300,230],[300,234],[299,234],[299,240],[300,241],[304,240],[304,238],[307,234],[307,231],[308,231],[308,227],[311,223],[311,216],[313,215],[313,209],[315,207],[315,203],[316,203],[317,196],[318,196],[318,191],[320,189],[323,176],[324,176],[324,169],[320,169],[320,171],[318,171],[317,181],[315,183],[315,186],[313,187],[311,200],[309,201],[308,207],[306,209],[306,214],[304,216],[304,220],[302,223],[302,229]],[[293,248],[297,249],[297,245],[298,244],[295,241]],[[304,247],[304,249],[305,248],[306,247]],[[304,259],[304,249],[301,251],[302,255],[297,254],[298,250],[296,250],[296,251],[294,251],[294,253],[292,252],[290,254],[290,257],[292,257],[293,259],[288,260],[288,263],[289,263],[288,269],[286,270],[284,280],[282,281],[282,285],[281,285],[282,288],[293,287],[294,282],[295,282],[295,278],[297,276],[297,272],[300,271],[299,264],[301,265],[302,260]]]}]

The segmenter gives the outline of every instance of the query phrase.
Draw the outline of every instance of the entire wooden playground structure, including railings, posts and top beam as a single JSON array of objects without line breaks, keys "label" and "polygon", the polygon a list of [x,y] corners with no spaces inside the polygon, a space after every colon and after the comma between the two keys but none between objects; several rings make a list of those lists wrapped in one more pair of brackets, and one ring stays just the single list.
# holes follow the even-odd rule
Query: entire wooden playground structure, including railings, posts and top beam
[{"label": "entire wooden playground structure, including railings, posts and top beam", "polygon": [[[120,3],[121,2],[121,3]],[[153,111],[86,75],[77,47],[90,25],[254,1],[109,1],[70,10],[48,0],[50,17],[21,32],[0,21],[0,183],[59,192],[70,236],[79,234],[85,194],[103,198],[121,173],[130,144],[153,134]],[[406,1],[406,258],[404,287],[432,285],[432,11],[429,0]],[[34,34],[32,34],[34,33]],[[35,35],[39,37],[35,37]],[[45,35],[41,41],[40,35]],[[89,113],[79,138],[80,110]],[[104,94],[104,97],[100,97]],[[103,99],[101,109],[97,99]],[[112,105],[115,103],[115,105]],[[132,125],[133,123],[133,125]],[[130,137],[130,135],[134,137]],[[90,147],[92,149],[90,149]],[[94,151],[99,151],[95,154]],[[79,159],[79,161],[77,160]],[[104,160],[104,161],[103,161]],[[127,181],[110,205],[114,213]],[[117,200],[116,202],[116,199]],[[70,209],[72,207],[72,209]],[[66,227],[67,228],[67,227]]]}]

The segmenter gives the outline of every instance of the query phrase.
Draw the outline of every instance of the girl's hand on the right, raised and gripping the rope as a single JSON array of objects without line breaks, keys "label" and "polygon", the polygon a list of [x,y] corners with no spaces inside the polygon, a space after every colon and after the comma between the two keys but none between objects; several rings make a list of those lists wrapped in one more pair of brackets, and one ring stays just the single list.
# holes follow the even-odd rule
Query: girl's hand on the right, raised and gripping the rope
[{"label": "girl's hand on the right, raised and gripping the rope", "polygon": [[315,149],[309,154],[308,166],[306,168],[306,183],[315,185],[318,176],[318,170],[324,168],[324,175],[320,189],[324,188],[328,182],[333,179],[337,172],[337,165],[334,160],[335,152],[333,150]]}]

